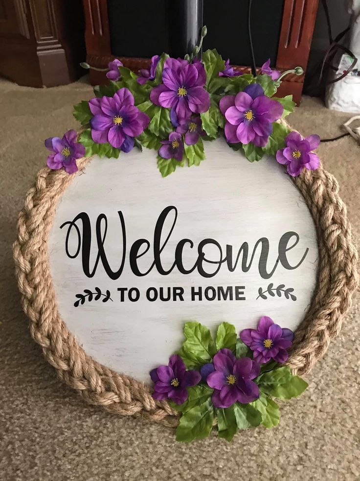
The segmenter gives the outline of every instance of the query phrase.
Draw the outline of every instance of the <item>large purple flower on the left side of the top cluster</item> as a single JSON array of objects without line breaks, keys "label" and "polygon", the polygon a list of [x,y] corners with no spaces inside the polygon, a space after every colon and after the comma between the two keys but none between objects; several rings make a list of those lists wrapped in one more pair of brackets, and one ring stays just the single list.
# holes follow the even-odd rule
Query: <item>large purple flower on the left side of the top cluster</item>
[{"label": "large purple flower on the left side of the top cluster", "polygon": [[93,117],[90,119],[91,137],[97,144],[109,142],[115,149],[129,152],[134,137],[149,125],[149,117],[134,105],[134,97],[123,87],[113,97],[94,98],[89,101]]}]

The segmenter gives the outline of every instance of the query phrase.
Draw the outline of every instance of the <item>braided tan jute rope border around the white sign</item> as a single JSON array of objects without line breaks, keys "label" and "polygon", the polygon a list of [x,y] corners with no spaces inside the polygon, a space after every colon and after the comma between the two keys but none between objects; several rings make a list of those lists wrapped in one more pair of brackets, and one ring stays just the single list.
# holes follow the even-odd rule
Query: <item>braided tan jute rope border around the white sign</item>
[{"label": "braided tan jute rope border around the white sign", "polygon": [[[80,172],[89,160],[78,161]],[[57,203],[75,176],[63,170],[41,169],[19,214],[14,259],[31,335],[59,378],[90,404],[127,416],[141,414],[150,421],[175,427],[178,413],[167,402],[155,401],[143,383],[88,356],[60,317],[50,276],[47,239]],[[351,294],[358,285],[357,249],[352,242],[346,207],[337,193],[336,179],[320,165],[293,180],[314,218],[320,257],[317,291],[296,331],[288,360],[293,372],[306,374],[339,333],[343,315],[351,305]]]}]

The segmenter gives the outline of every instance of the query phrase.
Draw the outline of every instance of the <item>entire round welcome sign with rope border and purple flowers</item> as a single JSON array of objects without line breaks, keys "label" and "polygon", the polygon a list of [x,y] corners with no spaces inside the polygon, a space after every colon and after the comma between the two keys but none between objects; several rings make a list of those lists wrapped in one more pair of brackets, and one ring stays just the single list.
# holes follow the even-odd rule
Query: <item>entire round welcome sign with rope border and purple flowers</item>
[{"label": "entire round welcome sign with rope border and purple flowers", "polygon": [[45,140],[14,244],[59,377],[183,442],[275,427],[358,285],[320,138],[292,131],[295,104],[275,97],[289,72],[197,58],[205,34],[138,74],[110,62],[109,84],[74,106],[80,131]]}]

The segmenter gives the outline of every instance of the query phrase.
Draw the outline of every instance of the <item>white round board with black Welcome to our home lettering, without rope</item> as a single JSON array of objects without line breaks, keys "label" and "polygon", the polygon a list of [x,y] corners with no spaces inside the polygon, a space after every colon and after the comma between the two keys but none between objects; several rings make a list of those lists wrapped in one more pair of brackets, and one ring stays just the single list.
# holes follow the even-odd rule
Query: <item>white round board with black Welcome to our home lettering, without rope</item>
[{"label": "white round board with black Welcome to our home lettering, without rope", "polygon": [[151,151],[92,159],[49,236],[68,329],[97,361],[147,383],[186,321],[240,331],[268,315],[295,330],[315,289],[314,221],[291,179],[223,140],[205,149],[201,167],[166,179]]}]

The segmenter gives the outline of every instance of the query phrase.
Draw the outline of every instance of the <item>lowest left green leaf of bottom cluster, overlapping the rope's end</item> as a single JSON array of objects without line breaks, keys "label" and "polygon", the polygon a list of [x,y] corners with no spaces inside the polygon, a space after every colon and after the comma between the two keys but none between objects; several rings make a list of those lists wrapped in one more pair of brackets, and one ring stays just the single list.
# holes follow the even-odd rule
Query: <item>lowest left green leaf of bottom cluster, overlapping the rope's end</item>
[{"label": "lowest left green leaf of bottom cluster, overlapping the rope's end", "polygon": [[194,439],[203,439],[210,434],[215,412],[208,399],[200,406],[193,407],[180,417],[176,430],[176,440],[188,443]]}]

